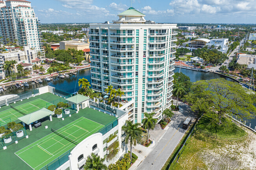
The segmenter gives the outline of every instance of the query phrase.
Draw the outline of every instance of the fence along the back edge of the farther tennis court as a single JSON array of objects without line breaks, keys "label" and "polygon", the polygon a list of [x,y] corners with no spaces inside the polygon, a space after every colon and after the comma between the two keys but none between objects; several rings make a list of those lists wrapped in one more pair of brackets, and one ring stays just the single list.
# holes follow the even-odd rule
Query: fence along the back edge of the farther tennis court
[{"label": "fence along the back edge of the farther tennis court", "polygon": [[6,97],[4,99],[0,100],[0,106],[4,106],[6,104],[10,104],[13,102],[17,102],[23,99],[27,99],[28,97],[33,97],[39,95],[39,89],[32,89],[32,90],[28,90],[28,91],[24,91],[22,93],[19,93],[17,95],[13,95],[13,96],[9,96]]}]

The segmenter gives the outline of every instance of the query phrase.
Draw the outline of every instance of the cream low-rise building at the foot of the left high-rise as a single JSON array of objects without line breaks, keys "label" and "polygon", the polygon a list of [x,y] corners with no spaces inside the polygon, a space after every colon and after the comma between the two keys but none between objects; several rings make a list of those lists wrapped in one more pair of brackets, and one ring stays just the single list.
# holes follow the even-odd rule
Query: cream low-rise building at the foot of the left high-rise
[{"label": "cream low-rise building at the foot of the left high-rise", "polygon": [[[6,61],[10,60],[17,61],[15,65],[16,70],[18,64],[21,64],[24,69],[28,70],[32,70],[33,64],[41,66],[41,60],[37,58],[37,50],[31,49],[30,46],[24,46],[23,49],[20,49],[20,47],[6,48],[6,52],[0,53],[0,64],[4,65]],[[4,79],[5,76],[1,75],[1,71],[0,66],[0,79]]]}]

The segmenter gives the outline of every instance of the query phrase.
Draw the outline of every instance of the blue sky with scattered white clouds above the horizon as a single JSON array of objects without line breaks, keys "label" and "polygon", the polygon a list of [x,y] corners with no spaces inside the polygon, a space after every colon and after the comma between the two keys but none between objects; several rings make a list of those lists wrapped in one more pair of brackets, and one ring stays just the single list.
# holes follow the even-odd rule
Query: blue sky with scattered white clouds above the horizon
[{"label": "blue sky with scattered white clouds above the horizon", "polygon": [[[30,0],[41,23],[105,22],[131,0]],[[171,23],[253,23],[256,0],[133,0],[147,20]]]}]

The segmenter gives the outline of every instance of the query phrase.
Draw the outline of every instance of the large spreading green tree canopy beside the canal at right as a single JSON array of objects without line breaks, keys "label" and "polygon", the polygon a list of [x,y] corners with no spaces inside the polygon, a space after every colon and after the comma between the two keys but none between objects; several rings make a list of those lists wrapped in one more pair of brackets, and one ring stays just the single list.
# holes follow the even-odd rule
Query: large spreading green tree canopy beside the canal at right
[{"label": "large spreading green tree canopy beside the canal at right", "polygon": [[247,119],[256,115],[255,94],[236,82],[222,78],[193,83],[186,101],[191,104],[191,110],[204,113],[218,125],[223,123],[226,114]]}]

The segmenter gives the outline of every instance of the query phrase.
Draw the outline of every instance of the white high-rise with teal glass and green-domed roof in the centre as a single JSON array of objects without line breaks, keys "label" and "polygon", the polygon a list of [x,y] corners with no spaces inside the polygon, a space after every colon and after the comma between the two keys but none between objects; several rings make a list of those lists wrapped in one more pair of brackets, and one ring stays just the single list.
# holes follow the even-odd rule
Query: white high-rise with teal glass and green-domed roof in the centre
[{"label": "white high-rise with teal glass and green-domed roof in the centre", "polygon": [[156,24],[130,7],[113,24],[90,24],[91,79],[94,91],[121,89],[122,107],[136,123],[144,113],[158,121],[171,106],[176,24]]}]

